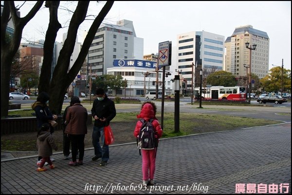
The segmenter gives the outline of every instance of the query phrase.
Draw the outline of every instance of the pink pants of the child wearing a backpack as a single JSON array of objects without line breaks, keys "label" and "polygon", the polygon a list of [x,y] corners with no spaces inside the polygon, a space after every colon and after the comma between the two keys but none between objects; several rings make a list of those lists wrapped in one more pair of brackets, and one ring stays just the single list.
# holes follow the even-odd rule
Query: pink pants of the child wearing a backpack
[{"label": "pink pants of the child wearing a backpack", "polygon": [[142,173],[143,180],[154,179],[156,148],[152,150],[142,149]]}]

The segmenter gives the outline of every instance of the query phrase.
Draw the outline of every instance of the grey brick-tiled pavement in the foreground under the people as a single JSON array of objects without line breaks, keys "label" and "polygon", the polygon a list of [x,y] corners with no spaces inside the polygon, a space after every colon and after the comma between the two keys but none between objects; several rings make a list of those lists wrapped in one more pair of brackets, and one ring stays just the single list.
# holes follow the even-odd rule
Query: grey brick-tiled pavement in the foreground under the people
[{"label": "grey brick-tiled pavement in the foreground under the people", "polygon": [[36,157],[1,162],[1,194],[235,194],[236,183],[289,183],[291,194],[291,123],[163,139],[147,188],[135,143],[110,146],[105,167],[92,148],[81,166],[53,157],[56,168],[40,173]]}]

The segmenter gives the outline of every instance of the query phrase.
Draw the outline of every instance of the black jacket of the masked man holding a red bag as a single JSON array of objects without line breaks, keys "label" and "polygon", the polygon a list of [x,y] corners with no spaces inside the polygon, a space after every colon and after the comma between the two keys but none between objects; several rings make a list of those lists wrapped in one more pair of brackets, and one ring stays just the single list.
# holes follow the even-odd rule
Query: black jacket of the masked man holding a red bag
[{"label": "black jacket of the masked man holding a red bag", "polygon": [[110,125],[110,121],[115,117],[116,110],[114,106],[114,102],[106,97],[99,101],[95,99],[93,101],[92,109],[91,109],[92,117],[97,116],[98,118],[106,118],[105,122],[101,122],[100,120],[94,121],[94,126],[96,127],[105,127]]}]

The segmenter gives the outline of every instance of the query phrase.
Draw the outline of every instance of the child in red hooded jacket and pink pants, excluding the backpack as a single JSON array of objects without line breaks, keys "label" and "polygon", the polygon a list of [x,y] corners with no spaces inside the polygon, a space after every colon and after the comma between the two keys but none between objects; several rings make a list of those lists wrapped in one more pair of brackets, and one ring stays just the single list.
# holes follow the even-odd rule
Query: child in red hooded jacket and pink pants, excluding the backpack
[{"label": "child in red hooded jacket and pink pants, excluding the backpack", "polygon": [[[155,130],[155,137],[157,139],[161,138],[163,130],[156,118],[156,105],[153,102],[145,102],[142,105],[140,114],[137,115],[137,118],[142,118],[146,121],[154,119],[152,121],[153,129]],[[134,130],[134,136],[138,138],[140,129],[143,123],[139,120],[136,123]],[[154,173],[155,173],[155,161],[156,161],[156,150],[141,149],[142,150],[142,174],[143,174],[143,185],[153,185],[154,184]]]}]

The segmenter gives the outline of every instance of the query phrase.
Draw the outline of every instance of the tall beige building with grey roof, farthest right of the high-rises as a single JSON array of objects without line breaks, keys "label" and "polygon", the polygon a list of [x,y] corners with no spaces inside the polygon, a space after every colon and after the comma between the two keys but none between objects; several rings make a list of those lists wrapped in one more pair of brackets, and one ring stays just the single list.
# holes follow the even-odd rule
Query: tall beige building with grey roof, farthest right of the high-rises
[{"label": "tall beige building with grey roof, farthest right of the high-rises", "polygon": [[[250,43],[250,46],[256,44],[256,50],[251,50],[251,63],[250,50],[245,47],[246,42]],[[225,71],[231,72],[237,78],[245,78],[249,75],[246,67],[252,64],[252,74],[256,74],[260,79],[269,74],[270,39],[266,32],[256,30],[251,25],[240,26],[226,39],[224,45]]]}]

